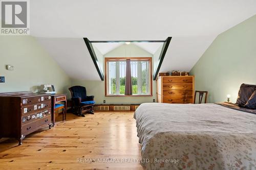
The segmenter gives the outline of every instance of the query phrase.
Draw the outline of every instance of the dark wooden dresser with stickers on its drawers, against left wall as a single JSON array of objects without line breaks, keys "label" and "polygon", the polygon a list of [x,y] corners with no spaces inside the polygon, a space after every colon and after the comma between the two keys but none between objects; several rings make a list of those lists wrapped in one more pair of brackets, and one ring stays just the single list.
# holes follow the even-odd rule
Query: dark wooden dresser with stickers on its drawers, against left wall
[{"label": "dark wooden dresser with stickers on its drawers, against left wall", "polygon": [[50,94],[0,93],[0,138],[16,138],[20,145],[26,135],[51,128],[51,120]]}]

